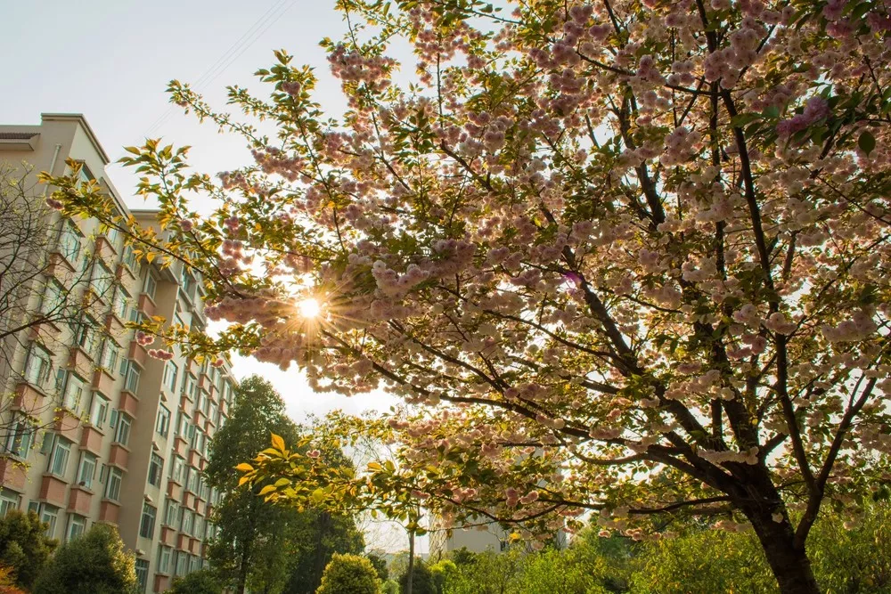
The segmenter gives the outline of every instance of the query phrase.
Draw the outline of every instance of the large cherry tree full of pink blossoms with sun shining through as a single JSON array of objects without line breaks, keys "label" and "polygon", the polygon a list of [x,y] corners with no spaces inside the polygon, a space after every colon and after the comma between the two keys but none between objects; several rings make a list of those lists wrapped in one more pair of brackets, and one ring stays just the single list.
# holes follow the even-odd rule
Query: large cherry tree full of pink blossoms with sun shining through
[{"label": "large cherry tree full of pink blossoms with sun shining through", "polygon": [[338,7],[342,117],[279,52],[268,96],[230,89],[240,115],[170,87],[244,135],[246,167],[129,149],[168,232],[131,241],[188,261],[231,324],[143,330],[404,396],[378,427],[404,443],[393,484],[446,523],[535,539],[593,513],[655,539],[652,517],[709,517],[817,592],[821,509],[854,523],[891,480],[887,5]]}]

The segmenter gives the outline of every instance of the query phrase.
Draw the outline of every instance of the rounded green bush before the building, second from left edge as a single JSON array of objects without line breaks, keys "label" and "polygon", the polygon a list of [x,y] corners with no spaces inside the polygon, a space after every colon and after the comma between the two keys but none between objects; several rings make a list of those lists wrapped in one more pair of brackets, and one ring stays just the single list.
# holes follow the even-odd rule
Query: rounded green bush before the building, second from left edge
[{"label": "rounded green bush before the building, second from left edge", "polygon": [[34,594],[129,594],[136,588],[135,557],[118,529],[94,524],[66,542],[37,577]]}]

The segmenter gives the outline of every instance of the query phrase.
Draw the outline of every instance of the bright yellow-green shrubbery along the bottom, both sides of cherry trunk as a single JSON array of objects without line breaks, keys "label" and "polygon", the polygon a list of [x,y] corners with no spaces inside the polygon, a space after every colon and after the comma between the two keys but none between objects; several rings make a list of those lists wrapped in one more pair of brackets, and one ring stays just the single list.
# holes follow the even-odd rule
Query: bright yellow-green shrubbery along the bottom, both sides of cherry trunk
[{"label": "bright yellow-green shrubbery along the bottom, both sides of cherry trunk", "polygon": [[[814,525],[809,553],[822,591],[891,591],[887,503],[868,504],[857,525],[826,512]],[[670,538],[635,542],[585,530],[567,549],[506,554],[450,553],[437,564],[443,594],[772,594],[777,584],[752,530],[688,525]],[[448,565],[446,565],[448,564]],[[434,567],[437,567],[434,566]]]}]

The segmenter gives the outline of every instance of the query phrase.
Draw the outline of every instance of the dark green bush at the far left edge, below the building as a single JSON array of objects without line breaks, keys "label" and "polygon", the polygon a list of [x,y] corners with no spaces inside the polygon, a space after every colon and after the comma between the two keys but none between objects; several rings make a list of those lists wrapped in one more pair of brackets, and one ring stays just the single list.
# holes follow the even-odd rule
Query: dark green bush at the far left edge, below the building
[{"label": "dark green bush at the far left edge, below the building", "polygon": [[0,564],[12,567],[13,582],[21,588],[31,587],[58,544],[45,530],[34,512],[12,510],[0,519]]}]

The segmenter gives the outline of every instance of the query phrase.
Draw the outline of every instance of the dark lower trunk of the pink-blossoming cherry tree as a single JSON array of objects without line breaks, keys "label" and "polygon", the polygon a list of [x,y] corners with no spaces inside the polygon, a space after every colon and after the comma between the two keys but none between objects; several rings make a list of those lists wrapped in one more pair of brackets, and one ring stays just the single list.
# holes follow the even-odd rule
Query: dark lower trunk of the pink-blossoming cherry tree
[{"label": "dark lower trunk of the pink-blossoming cherry tree", "polygon": [[796,546],[795,532],[789,520],[784,518],[781,523],[774,522],[771,515],[761,510],[747,513],[747,516],[782,594],[820,594],[811,560],[804,546]]}]

